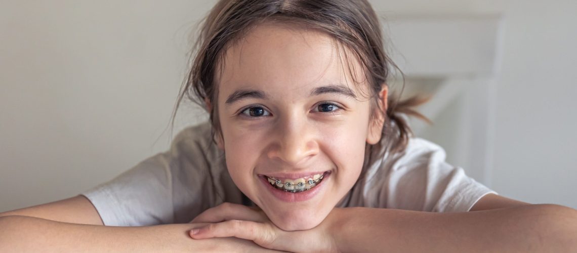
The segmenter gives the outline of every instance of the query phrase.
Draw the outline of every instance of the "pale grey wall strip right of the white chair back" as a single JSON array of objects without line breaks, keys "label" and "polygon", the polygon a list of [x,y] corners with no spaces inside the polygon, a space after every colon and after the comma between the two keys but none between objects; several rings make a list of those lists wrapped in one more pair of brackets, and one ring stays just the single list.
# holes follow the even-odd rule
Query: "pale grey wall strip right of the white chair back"
[{"label": "pale grey wall strip right of the white chair back", "polygon": [[577,1],[507,6],[493,188],[577,208]]}]

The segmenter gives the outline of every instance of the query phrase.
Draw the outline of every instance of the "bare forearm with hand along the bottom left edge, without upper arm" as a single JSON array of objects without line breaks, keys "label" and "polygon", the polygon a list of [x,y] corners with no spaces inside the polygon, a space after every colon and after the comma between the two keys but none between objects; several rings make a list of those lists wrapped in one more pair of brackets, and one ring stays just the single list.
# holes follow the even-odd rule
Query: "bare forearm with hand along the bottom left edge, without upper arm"
[{"label": "bare forearm with hand along the bottom left edge, without upper arm", "polygon": [[182,252],[210,251],[230,245],[264,250],[236,238],[193,240],[188,231],[203,224],[158,226],[96,226],[25,216],[0,217],[0,252]]}]

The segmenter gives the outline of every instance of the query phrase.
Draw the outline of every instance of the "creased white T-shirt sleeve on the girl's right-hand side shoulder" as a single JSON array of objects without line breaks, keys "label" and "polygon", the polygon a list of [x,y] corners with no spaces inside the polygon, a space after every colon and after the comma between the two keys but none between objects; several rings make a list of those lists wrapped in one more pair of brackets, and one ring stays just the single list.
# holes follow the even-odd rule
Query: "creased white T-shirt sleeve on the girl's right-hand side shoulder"
[{"label": "creased white T-shirt sleeve on the girl's right-hand side shoulder", "polygon": [[387,175],[387,207],[426,212],[468,212],[486,194],[497,194],[445,161],[444,150],[424,139]]}]

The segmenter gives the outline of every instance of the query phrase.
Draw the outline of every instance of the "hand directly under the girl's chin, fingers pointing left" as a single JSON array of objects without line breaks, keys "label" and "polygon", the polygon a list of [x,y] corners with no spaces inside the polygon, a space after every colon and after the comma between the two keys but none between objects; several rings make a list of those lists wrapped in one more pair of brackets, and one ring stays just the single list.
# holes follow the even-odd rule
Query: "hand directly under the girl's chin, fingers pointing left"
[{"label": "hand directly under the girl's chin, fingers pointing left", "polygon": [[252,240],[265,248],[290,252],[336,251],[335,242],[329,233],[331,221],[335,216],[333,213],[336,213],[335,209],[313,229],[283,231],[258,207],[223,203],[194,218],[190,223],[211,224],[192,229],[189,235],[193,239],[234,236]]}]

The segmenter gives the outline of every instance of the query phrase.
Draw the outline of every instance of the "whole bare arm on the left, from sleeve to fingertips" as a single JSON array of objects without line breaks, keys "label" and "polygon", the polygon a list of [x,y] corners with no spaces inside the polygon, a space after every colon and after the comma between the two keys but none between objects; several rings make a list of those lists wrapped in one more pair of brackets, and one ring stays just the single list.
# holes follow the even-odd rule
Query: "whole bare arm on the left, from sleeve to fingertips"
[{"label": "whole bare arm on the left, from sleeve to fingertips", "polygon": [[233,237],[192,241],[186,231],[194,226],[198,224],[103,226],[92,203],[78,195],[0,213],[0,252],[264,251]]}]

